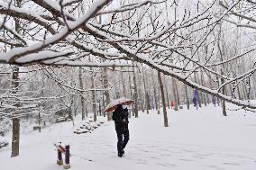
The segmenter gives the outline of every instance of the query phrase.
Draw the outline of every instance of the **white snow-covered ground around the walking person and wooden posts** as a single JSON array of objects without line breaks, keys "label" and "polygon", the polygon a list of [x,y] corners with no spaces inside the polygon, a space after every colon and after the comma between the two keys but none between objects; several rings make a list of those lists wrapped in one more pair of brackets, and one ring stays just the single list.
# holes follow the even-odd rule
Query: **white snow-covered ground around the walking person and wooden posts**
[{"label": "white snow-covered ground around the walking person and wooden posts", "polygon": [[117,157],[113,121],[93,133],[79,135],[73,133],[69,121],[52,125],[41,133],[22,134],[19,157],[10,157],[10,146],[0,149],[0,169],[62,169],[56,164],[57,151],[52,146],[58,141],[70,144],[73,170],[256,169],[256,113],[230,111],[224,117],[221,108],[213,106],[198,111],[169,110],[169,128],[164,128],[162,114],[140,112],[129,126],[125,157]]}]

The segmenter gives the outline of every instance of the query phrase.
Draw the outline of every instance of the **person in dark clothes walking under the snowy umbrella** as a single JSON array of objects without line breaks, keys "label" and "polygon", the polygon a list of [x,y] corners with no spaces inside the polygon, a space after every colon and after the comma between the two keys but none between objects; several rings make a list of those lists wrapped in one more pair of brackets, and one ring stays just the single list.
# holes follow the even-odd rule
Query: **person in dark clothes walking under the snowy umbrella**
[{"label": "person in dark clothes walking under the snowy umbrella", "polygon": [[128,109],[125,104],[118,104],[112,115],[114,121],[115,131],[117,135],[117,155],[123,157],[123,149],[126,147],[129,140],[128,129]]}]

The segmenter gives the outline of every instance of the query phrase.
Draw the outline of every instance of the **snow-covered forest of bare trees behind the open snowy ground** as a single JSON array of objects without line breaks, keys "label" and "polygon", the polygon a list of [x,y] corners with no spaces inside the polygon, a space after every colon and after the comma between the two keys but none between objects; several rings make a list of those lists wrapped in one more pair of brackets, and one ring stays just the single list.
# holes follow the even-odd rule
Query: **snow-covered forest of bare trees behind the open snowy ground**
[{"label": "snow-covered forest of bare trees behind the open snowy ground", "polygon": [[[255,112],[253,0],[0,0],[0,135],[209,104]],[[197,101],[195,102],[195,97]]]}]

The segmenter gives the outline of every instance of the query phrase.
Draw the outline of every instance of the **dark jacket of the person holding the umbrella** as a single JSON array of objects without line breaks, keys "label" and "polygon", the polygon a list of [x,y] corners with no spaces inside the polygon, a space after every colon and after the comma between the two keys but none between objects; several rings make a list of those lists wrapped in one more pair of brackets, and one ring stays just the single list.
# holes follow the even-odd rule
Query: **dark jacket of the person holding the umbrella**
[{"label": "dark jacket of the person holding the umbrella", "polygon": [[122,105],[118,105],[113,112],[112,120],[115,124],[115,130],[128,129],[128,109],[123,109]]}]

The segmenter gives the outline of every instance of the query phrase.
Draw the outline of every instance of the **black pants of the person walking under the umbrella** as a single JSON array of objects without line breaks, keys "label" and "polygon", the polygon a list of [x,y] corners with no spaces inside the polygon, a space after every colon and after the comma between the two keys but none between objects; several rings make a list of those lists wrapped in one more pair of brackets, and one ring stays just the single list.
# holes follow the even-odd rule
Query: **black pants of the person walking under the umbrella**
[{"label": "black pants of the person walking under the umbrella", "polygon": [[116,130],[117,134],[117,150],[121,151],[128,143],[129,140],[129,129],[124,128],[123,130]]}]

